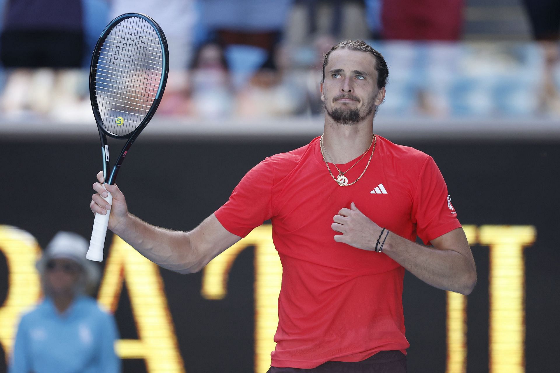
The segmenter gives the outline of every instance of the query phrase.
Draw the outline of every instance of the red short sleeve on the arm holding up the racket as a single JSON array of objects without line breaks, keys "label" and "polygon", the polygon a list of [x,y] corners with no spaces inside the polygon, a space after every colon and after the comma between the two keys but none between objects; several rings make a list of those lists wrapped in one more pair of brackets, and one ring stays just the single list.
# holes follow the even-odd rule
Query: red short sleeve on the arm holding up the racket
[{"label": "red short sleeve on the arm holding up the racket", "polygon": [[245,174],[214,215],[228,232],[245,237],[272,217],[273,183],[274,168],[267,158]]}]

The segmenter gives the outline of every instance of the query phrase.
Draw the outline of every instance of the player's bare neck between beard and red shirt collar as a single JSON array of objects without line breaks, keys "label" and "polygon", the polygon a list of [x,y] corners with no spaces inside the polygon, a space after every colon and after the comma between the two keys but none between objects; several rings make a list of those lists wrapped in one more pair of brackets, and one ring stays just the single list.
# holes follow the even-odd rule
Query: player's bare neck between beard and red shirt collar
[{"label": "player's bare neck between beard and red shirt collar", "polygon": [[370,148],[372,138],[371,122],[369,125],[341,125],[325,121],[323,146],[331,158],[327,160],[337,164],[348,163]]}]

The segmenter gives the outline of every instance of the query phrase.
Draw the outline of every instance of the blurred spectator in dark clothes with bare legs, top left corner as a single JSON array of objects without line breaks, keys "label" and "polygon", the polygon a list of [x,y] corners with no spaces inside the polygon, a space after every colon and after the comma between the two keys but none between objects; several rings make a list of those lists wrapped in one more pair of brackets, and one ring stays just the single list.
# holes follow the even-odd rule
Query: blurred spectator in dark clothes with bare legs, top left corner
[{"label": "blurred spectator in dark clothes with bare legs, top left corner", "polygon": [[[82,66],[82,2],[8,0],[3,18],[0,60],[10,69],[1,100],[4,114],[18,116],[26,110],[47,114],[64,79],[73,79],[72,73],[61,69]],[[29,70],[36,68],[58,70]],[[63,93],[66,105],[77,100],[73,92]]]}]

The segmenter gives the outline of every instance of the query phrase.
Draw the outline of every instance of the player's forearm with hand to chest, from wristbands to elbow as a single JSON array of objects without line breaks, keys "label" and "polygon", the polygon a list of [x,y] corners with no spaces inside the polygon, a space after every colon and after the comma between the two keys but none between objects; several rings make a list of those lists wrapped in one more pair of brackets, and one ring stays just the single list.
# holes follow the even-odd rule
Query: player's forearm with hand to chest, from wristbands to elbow
[{"label": "player's forearm with hand to chest, from wristbands to elbow", "polygon": [[382,252],[420,280],[438,289],[468,295],[476,283],[472,256],[469,257],[451,247],[427,247],[391,232]]}]

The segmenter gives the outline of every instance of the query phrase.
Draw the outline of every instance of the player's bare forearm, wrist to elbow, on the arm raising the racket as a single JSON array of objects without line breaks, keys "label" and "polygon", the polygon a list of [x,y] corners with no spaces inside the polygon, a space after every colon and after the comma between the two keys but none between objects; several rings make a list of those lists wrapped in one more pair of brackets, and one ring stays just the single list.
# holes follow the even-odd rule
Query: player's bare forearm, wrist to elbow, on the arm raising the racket
[{"label": "player's bare forearm, wrist to elbow, on the arm raising the racket", "polygon": [[188,232],[153,226],[128,213],[113,232],[144,257],[171,271],[191,273],[199,270],[197,250]]}]

